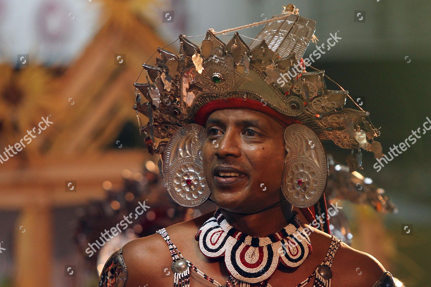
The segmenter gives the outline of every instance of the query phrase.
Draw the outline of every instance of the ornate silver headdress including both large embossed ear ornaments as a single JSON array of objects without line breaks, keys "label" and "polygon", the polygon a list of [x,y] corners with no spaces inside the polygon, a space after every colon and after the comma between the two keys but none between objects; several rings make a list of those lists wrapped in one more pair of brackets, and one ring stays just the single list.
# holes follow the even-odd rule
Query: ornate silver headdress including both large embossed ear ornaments
[{"label": "ornate silver headdress including both large embossed ear ornaments", "polygon": [[[292,4],[264,22],[250,46],[237,32],[225,44],[215,36],[222,33],[210,29],[200,47],[180,35],[179,54],[158,48],[156,66],[143,65],[147,83],[134,83],[134,109],[149,118],[141,127],[145,142],[151,154],[160,154],[159,169],[178,204],[199,205],[209,196],[200,158],[206,117],[199,112],[216,100],[257,101],[300,123],[284,133],[286,150],[294,151],[287,157],[299,158],[285,160],[291,167],[285,167],[282,183],[295,206],[315,204],[325,189],[328,163],[319,139],[352,149],[347,158],[352,171],[362,165],[360,148],[382,156],[380,143],[374,141],[380,132],[369,112],[353,100],[360,110],[344,108],[348,91],[326,89],[325,71],[305,71],[302,56],[315,40],[315,22],[299,16]],[[169,141],[156,147],[154,137]],[[298,143],[303,147],[295,147]],[[303,179],[307,176],[308,182]]]}]

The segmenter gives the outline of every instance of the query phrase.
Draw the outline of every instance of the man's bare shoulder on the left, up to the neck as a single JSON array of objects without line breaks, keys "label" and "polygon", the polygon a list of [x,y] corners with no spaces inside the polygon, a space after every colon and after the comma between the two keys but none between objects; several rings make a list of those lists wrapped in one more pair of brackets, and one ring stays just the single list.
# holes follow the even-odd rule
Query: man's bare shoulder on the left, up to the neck
[{"label": "man's bare shoulder on the left, up to the neck", "polygon": [[[170,238],[190,238],[189,234],[193,236],[200,227],[199,224],[202,224],[211,215],[207,213],[195,219],[171,225],[166,228],[166,231]],[[164,272],[171,271],[172,257],[168,244],[157,233],[125,244],[122,255],[127,267],[125,287],[142,286],[142,284],[155,286],[163,280]],[[169,277],[169,281],[171,281],[171,277]]]}]

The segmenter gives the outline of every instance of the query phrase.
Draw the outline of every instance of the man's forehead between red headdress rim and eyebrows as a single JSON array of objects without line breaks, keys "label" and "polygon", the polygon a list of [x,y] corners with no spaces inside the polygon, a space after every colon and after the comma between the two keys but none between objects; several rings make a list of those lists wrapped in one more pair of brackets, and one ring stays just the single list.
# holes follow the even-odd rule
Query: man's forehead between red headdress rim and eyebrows
[{"label": "man's forehead between red headdress rim and eyebrows", "polygon": [[230,123],[235,125],[248,123],[257,127],[269,127],[277,123],[277,121],[260,111],[248,108],[225,108],[213,111],[209,115],[206,125],[209,123]]}]

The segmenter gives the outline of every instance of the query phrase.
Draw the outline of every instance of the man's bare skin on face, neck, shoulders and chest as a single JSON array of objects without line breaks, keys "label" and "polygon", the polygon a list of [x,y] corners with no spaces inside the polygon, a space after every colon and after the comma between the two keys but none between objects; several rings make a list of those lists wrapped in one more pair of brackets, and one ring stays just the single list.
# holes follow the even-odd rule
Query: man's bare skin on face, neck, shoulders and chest
[{"label": "man's bare skin on face, neck, shoulders and chest", "polygon": [[[244,124],[240,120],[255,124]],[[208,122],[206,130],[211,136],[204,144],[203,159],[212,200],[222,209],[223,215],[235,228],[247,234],[266,236],[278,231],[286,225],[285,218],[289,218],[292,213],[292,205],[287,202],[252,215],[238,215],[235,212],[252,213],[277,203],[283,197],[280,187],[283,159],[286,154],[281,136],[283,126],[271,117],[249,109],[214,111]],[[212,144],[212,139],[217,139],[219,143],[217,148]],[[240,169],[244,173],[244,179],[232,183],[219,183],[215,176],[212,176],[213,167],[223,163]],[[265,191],[258,191],[262,190],[261,182],[267,183]],[[223,259],[206,258],[197,247],[197,242],[193,240],[197,229],[211,215],[204,214],[187,222],[169,226],[166,230],[185,258],[211,274],[215,280],[223,282],[229,276],[222,264]],[[308,224],[303,224],[303,227],[312,231],[310,234],[312,254],[306,259],[306,264],[300,265],[294,272],[281,265],[271,278],[272,286],[296,286],[312,274],[325,257],[331,236]],[[170,270],[172,259],[168,247],[158,234],[131,241],[123,247],[122,254],[128,273],[125,287],[146,284],[171,286],[172,277],[164,275],[162,271],[164,268]],[[374,257],[342,243],[332,265],[331,286],[371,287],[384,271],[384,267]],[[191,278],[191,286],[211,285],[196,275]],[[309,286],[312,286],[311,282]]]}]

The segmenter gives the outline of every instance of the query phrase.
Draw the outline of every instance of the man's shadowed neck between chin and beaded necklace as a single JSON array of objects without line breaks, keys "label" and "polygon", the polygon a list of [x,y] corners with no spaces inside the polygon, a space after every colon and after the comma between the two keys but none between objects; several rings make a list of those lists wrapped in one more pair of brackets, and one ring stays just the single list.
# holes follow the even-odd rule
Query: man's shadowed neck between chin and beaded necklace
[{"label": "man's shadowed neck between chin and beaded necklace", "polygon": [[257,237],[266,237],[279,231],[294,216],[293,206],[287,201],[255,214],[244,215],[225,209],[220,209],[220,211],[234,228]]}]

